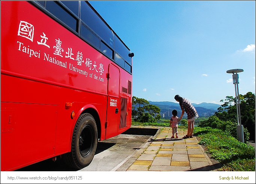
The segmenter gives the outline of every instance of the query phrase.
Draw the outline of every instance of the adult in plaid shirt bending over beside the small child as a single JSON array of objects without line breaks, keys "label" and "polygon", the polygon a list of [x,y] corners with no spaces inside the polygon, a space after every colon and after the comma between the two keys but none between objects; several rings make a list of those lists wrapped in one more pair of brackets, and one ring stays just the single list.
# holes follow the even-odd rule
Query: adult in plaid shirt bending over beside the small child
[{"label": "adult in plaid shirt bending over beside the small child", "polygon": [[193,134],[193,130],[194,130],[194,122],[195,122],[195,119],[198,118],[196,109],[186,98],[182,98],[180,95],[175,95],[174,99],[177,102],[179,102],[180,108],[182,110],[182,114],[178,121],[180,121],[182,119],[184,112],[186,112],[188,114],[188,133],[183,138],[184,139],[192,138],[193,137],[192,134]]}]

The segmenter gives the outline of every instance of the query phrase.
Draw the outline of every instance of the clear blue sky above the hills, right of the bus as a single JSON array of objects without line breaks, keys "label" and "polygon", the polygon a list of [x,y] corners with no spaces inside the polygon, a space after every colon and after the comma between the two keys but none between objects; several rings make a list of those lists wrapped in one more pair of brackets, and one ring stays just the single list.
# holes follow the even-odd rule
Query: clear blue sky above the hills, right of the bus
[{"label": "clear blue sky above the hills, right of the bus", "polygon": [[89,1],[134,53],[132,95],[222,104],[255,93],[255,1]]}]

